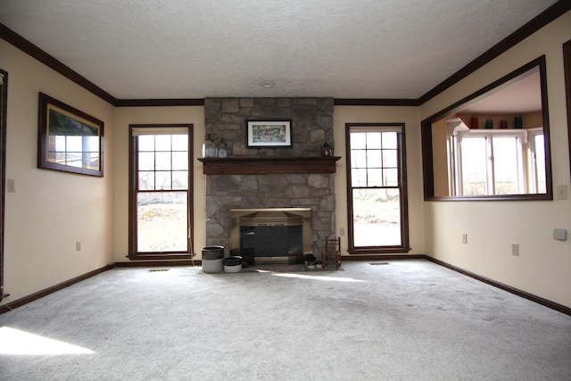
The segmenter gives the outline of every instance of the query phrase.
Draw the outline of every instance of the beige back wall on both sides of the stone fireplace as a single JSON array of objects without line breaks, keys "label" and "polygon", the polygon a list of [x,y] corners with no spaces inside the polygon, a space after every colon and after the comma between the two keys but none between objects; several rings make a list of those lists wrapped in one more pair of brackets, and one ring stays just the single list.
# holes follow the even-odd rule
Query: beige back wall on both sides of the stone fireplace
[{"label": "beige back wall on both sides of the stone fireplace", "polygon": [[[345,177],[345,123],[394,122],[405,123],[407,161],[409,169],[410,253],[424,253],[422,228],[422,173],[420,162],[420,132],[416,107],[358,107],[336,106],[334,109],[335,156],[335,225],[337,234],[343,228],[343,253],[347,249],[347,198]],[[194,252],[201,259],[205,246],[205,178],[203,166],[196,158],[202,155],[204,141],[203,107],[130,107],[116,111],[115,163],[115,261],[128,261],[128,125],[137,123],[192,123],[194,124]]]}]

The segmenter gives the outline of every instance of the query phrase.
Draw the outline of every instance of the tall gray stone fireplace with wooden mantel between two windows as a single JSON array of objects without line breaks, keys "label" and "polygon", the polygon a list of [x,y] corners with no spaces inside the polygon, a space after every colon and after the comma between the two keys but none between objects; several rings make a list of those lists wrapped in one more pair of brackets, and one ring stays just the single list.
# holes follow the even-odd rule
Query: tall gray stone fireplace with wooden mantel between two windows
[{"label": "tall gray stone fireplace with wooden mantel between two windows", "polygon": [[[230,248],[235,251],[236,244],[231,242],[233,210],[301,208],[310,211],[310,219],[302,218],[310,227],[302,228],[303,234],[310,236],[303,236],[302,253],[293,248],[287,249],[292,249],[292,255],[277,253],[271,247],[264,250],[271,253],[268,258],[276,257],[269,261],[299,261],[306,253],[319,257],[325,238],[335,234],[334,172],[338,158],[320,157],[324,143],[334,146],[333,98],[206,98],[204,111],[206,133],[216,143],[224,139],[228,144],[228,158],[200,159],[206,174],[206,244],[223,245],[227,255]],[[292,120],[293,146],[246,148],[245,121],[256,119]],[[299,230],[294,225],[286,233],[249,228],[250,237],[252,233],[289,237]],[[285,243],[289,244],[299,246],[299,239]]]}]

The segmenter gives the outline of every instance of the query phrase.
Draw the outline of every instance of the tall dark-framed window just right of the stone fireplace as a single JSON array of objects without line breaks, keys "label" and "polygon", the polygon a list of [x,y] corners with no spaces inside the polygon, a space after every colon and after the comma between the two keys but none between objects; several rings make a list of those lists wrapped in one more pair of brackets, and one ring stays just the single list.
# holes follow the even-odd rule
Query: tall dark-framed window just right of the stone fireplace
[{"label": "tall dark-framed window just right of the stone fireplace", "polygon": [[346,125],[349,253],[409,249],[403,124]]}]

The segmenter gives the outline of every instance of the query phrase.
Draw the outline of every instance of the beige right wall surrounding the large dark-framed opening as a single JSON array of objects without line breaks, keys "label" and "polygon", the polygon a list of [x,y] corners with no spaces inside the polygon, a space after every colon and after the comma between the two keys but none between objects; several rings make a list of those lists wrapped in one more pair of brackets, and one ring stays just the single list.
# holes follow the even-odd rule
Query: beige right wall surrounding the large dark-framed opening
[{"label": "beige right wall surrounding the large dark-framed opening", "polygon": [[[553,183],[569,186],[569,148],[562,44],[571,39],[571,12],[419,108],[424,120],[542,54],[546,55]],[[569,200],[534,202],[426,202],[426,253],[462,269],[571,307]],[[468,234],[462,244],[461,234]],[[519,244],[520,255],[510,252]]]}]

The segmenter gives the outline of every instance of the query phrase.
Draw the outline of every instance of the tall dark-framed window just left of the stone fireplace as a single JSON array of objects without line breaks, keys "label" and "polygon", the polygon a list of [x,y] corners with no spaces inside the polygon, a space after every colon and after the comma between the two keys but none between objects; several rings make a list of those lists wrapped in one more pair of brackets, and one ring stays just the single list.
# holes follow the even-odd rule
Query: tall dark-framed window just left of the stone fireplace
[{"label": "tall dark-framed window just left of the stone fireplace", "polygon": [[129,258],[190,258],[192,126],[130,126]]}]

